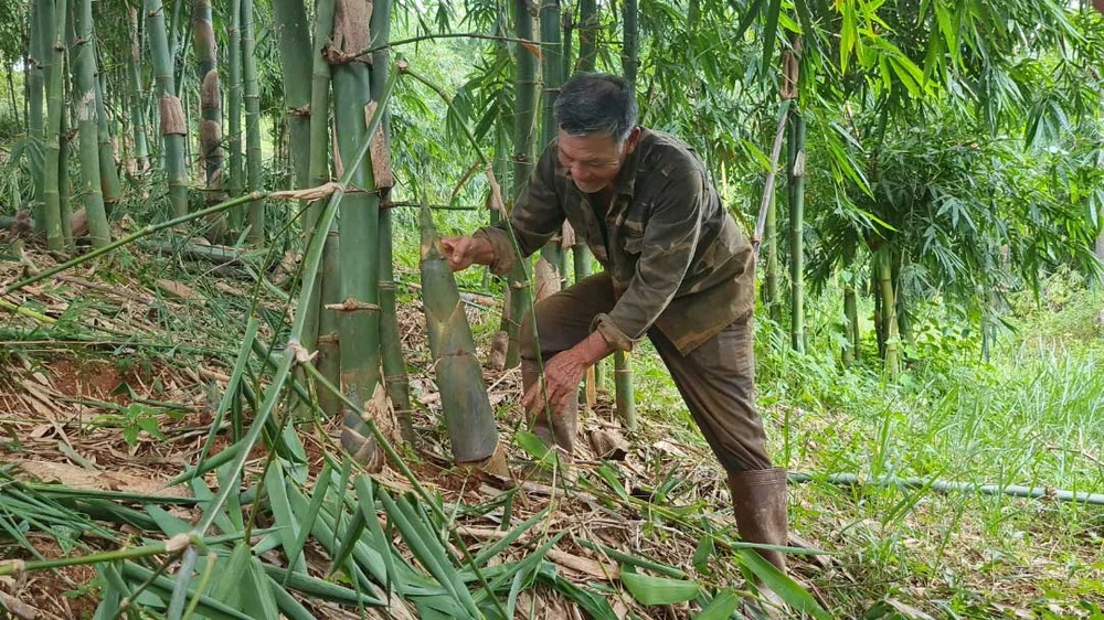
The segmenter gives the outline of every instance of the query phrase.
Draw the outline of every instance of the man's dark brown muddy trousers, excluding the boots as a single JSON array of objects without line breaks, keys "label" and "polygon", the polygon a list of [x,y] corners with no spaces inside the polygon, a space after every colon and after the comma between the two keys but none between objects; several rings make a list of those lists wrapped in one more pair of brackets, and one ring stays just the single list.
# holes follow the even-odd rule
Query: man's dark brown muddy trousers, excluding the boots
[{"label": "man's dark brown muddy trousers, excluding the boots", "polygon": [[[609,277],[591,276],[537,303],[537,331],[544,363],[556,353],[582,342],[599,313],[615,303]],[[721,333],[682,355],[659,330],[648,339],[670,371],[690,415],[705,436],[713,453],[729,473],[772,467],[766,452],[763,420],[755,409],[755,353],[752,317],[740,319]],[[537,380],[537,344],[531,321],[521,323],[523,380]],[[533,421],[534,432],[571,452],[575,435],[575,407],[550,424],[546,416]]]}]

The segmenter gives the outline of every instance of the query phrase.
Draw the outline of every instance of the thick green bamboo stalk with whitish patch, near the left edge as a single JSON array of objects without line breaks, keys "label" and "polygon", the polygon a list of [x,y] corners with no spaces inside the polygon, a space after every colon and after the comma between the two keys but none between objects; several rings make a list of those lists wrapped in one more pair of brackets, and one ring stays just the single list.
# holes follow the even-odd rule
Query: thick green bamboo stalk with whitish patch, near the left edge
[{"label": "thick green bamboo stalk with whitish patch, near the left edge", "polygon": [[[99,125],[96,105],[96,47],[92,21],[92,0],[76,0],[76,45],[73,81],[73,107],[79,131],[81,193],[93,247],[112,242],[104,206],[103,177],[99,170]],[[114,169],[114,164],[113,164]]]}]

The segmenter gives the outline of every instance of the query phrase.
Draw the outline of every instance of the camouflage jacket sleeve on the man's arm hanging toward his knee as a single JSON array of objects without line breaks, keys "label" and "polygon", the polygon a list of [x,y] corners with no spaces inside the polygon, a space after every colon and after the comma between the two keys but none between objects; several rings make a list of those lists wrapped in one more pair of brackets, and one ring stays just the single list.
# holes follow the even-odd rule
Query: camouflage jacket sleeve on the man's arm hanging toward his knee
[{"label": "camouflage jacket sleeve on the man's arm hanging toward his knee", "polygon": [[678,292],[698,248],[704,196],[705,181],[694,171],[671,180],[657,197],[628,288],[608,314],[594,319],[615,350],[631,350]]}]

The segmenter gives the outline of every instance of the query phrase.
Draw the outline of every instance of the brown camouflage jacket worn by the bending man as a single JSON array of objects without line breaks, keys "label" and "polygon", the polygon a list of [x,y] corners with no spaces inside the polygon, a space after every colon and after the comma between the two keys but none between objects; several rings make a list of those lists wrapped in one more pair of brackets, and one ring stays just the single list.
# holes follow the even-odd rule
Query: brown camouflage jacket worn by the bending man
[{"label": "brown camouflage jacket worn by the bending man", "polygon": [[[705,167],[682,141],[644,129],[617,178],[605,216],[560,165],[552,142],[510,215],[529,256],[566,218],[609,274],[617,299],[593,329],[617,350],[655,325],[682,354],[716,335],[754,306],[751,244],[721,204]],[[514,264],[505,223],[476,233],[491,242],[491,270]]]}]

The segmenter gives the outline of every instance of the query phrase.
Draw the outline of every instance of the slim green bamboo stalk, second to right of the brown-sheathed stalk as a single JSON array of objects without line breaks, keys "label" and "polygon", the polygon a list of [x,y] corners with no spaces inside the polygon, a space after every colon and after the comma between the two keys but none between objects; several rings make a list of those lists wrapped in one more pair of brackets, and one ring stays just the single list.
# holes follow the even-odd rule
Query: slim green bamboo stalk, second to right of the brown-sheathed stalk
[{"label": "slim green bamboo stalk, second to right of the brown-sheathed stalk", "polygon": [[[253,0],[242,2],[242,76],[245,81],[245,165],[251,192],[264,184],[264,162],[261,151],[261,81],[257,77],[256,41],[253,34]],[[265,242],[265,203],[250,204],[248,242]]]}]

